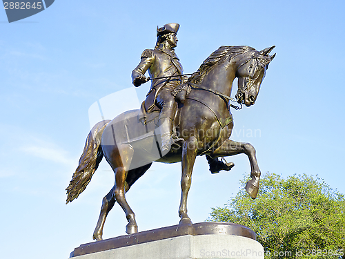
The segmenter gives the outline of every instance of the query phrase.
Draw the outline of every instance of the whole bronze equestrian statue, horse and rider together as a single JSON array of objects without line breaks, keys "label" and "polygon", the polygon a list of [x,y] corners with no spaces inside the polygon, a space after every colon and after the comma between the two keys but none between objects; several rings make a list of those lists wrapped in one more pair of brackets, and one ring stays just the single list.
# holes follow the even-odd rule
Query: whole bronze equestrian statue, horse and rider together
[{"label": "whole bronze equestrian statue, horse and rider together", "polygon": [[[249,46],[221,46],[186,79],[174,51],[178,29],[177,23],[157,29],[155,49],[144,50],[140,63],[132,72],[135,86],[148,81],[144,75],[146,71],[153,78],[146,101],[138,110],[127,111],[92,128],[79,166],[66,189],[68,203],[86,189],[102,157],[106,157],[115,173],[115,185],[103,198],[93,233],[93,238],[98,241],[102,240],[104,222],[115,202],[126,213],[126,233],[138,232],[135,213],[125,193],[148,171],[152,162],[181,162],[181,225],[192,225],[187,213],[187,198],[197,155],[210,157],[211,172],[217,173],[233,164],[224,168],[212,160],[246,154],[251,179],[245,188],[251,198],[257,197],[261,173],[256,151],[249,143],[230,140],[234,124],[229,99],[233,81],[237,78],[237,102],[245,106],[255,103],[268,64],[275,57],[269,55],[274,46],[261,51]],[[186,84],[189,93],[184,102],[177,103],[172,92],[181,84]],[[152,218],[159,217],[159,213],[153,212],[159,212],[155,206],[155,198],[148,197],[147,208],[152,209]]]}]

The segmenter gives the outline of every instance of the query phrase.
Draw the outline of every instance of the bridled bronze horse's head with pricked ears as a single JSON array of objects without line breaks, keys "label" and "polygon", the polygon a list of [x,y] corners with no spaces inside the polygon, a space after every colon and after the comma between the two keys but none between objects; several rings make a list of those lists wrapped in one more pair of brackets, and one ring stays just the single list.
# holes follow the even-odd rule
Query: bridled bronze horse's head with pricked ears
[{"label": "bridled bronze horse's head with pricked ears", "polygon": [[265,77],[268,64],[275,55],[268,55],[275,46],[262,51],[249,51],[239,60],[236,76],[238,90],[236,99],[239,104],[253,105],[259,94],[260,85]]}]

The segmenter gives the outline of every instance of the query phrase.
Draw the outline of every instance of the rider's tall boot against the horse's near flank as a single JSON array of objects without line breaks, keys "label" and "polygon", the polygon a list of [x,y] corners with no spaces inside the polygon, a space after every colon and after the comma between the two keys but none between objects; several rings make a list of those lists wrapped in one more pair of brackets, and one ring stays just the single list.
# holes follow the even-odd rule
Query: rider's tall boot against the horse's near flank
[{"label": "rider's tall boot against the horse's near flank", "polygon": [[173,122],[171,118],[159,119],[159,131],[161,133],[161,152],[167,153],[170,148],[180,148],[184,139],[177,137],[173,133]]}]

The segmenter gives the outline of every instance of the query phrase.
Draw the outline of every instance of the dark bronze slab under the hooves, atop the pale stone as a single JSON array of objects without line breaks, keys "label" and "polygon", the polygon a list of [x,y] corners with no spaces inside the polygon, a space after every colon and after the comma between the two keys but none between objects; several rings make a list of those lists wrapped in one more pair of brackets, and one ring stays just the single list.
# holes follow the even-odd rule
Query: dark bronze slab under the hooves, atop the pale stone
[{"label": "dark bronze slab under the hooves, atop the pale stone", "polygon": [[202,222],[192,225],[175,225],[170,227],[163,227],[160,229],[152,229],[126,236],[119,236],[117,238],[109,238],[99,242],[91,242],[88,244],[81,244],[80,247],[72,251],[70,257],[82,256],[88,253],[96,253],[120,247],[129,247],[134,244],[143,244],[166,238],[175,238],[177,236],[198,236],[198,235],[233,235],[244,236],[256,240],[254,231],[248,227],[240,224],[226,223],[226,222]]}]

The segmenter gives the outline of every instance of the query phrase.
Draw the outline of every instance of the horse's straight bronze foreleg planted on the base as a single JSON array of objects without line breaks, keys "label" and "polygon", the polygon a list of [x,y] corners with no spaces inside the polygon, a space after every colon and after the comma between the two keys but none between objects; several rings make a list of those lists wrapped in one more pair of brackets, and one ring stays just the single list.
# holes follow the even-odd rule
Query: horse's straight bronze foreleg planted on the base
[{"label": "horse's straight bronze foreleg planted on the base", "polygon": [[197,139],[190,137],[182,147],[181,203],[179,205],[179,224],[192,224],[187,214],[187,196],[192,183],[192,171],[197,157]]}]

